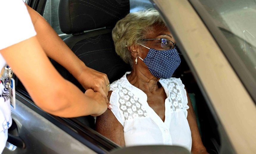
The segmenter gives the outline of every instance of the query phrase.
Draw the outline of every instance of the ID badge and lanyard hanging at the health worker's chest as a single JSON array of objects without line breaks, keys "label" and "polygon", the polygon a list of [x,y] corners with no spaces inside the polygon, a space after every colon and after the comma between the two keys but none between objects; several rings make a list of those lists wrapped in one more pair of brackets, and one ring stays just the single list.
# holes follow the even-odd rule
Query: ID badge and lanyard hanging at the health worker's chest
[{"label": "ID badge and lanyard hanging at the health worker's chest", "polygon": [[15,109],[15,80],[13,79],[13,71],[8,65],[4,66],[4,73],[1,77],[3,85],[9,90],[10,103]]}]

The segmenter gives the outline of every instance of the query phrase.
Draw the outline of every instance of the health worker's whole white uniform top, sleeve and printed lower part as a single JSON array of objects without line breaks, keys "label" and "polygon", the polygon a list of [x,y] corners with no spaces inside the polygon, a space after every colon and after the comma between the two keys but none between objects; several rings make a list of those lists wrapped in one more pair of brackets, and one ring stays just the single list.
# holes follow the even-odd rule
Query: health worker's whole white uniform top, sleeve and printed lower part
[{"label": "health worker's whole white uniform top, sleeve and printed lower part", "polygon": [[[3,0],[0,4],[0,51],[35,36],[27,8],[22,0]],[[0,53],[0,70],[5,64]],[[0,90],[4,89],[0,84]],[[11,125],[10,100],[0,96],[0,153],[4,150],[8,128]]]}]

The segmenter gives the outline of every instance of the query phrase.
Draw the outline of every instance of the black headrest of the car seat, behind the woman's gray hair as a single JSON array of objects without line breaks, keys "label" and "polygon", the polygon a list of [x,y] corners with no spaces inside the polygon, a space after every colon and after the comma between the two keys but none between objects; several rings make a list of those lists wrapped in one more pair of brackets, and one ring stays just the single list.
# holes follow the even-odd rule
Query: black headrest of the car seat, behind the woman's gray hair
[{"label": "black headrest of the car seat, behind the woman's gray hair", "polygon": [[114,27],[129,10],[129,0],[60,0],[60,29],[63,33],[74,34],[102,27]]}]

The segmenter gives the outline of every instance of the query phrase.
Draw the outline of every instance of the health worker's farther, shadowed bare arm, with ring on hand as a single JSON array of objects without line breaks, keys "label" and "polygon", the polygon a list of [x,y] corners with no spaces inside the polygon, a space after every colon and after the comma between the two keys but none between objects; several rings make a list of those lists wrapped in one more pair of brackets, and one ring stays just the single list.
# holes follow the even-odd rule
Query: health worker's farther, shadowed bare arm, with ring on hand
[{"label": "health worker's farther, shadowed bare arm, with ring on hand", "polygon": [[106,86],[109,84],[107,75],[85,66],[84,62],[69,49],[49,23],[34,9],[28,5],[26,7],[37,32],[36,37],[47,56],[66,68],[86,90],[93,89],[100,92],[107,101],[109,91]]}]

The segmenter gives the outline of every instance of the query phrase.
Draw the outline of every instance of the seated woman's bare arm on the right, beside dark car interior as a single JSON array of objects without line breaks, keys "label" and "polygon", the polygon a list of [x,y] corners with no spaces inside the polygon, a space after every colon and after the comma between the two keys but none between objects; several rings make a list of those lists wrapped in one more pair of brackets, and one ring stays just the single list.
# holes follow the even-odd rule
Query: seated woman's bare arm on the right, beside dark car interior
[{"label": "seated woman's bare arm on the right, beside dark car interior", "polygon": [[191,136],[192,136],[191,152],[193,154],[207,154],[206,148],[203,145],[203,142],[199,134],[199,130],[196,123],[196,115],[195,115],[191,100],[188,96],[188,92],[187,92],[187,97],[188,97],[188,106],[189,106],[187,119],[188,119],[188,124],[191,130]]}]

